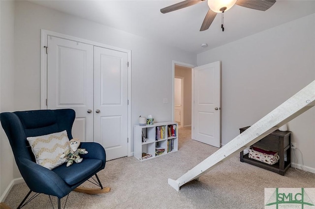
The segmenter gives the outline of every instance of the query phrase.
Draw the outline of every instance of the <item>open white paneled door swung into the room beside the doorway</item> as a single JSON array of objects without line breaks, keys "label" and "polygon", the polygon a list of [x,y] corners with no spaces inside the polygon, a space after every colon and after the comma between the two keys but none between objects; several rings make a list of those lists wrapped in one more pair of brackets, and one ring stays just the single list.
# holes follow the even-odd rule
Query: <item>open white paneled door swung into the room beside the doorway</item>
[{"label": "open white paneled door swung into the room beside the doorway", "polygon": [[220,147],[221,62],[193,68],[192,139]]}]

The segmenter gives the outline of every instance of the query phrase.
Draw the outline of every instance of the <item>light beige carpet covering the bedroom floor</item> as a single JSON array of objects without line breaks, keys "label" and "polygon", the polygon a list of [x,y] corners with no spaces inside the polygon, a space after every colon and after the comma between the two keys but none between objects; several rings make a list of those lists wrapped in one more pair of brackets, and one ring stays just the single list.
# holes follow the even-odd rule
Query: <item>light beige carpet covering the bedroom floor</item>
[{"label": "light beige carpet covering the bedroom floor", "polygon": [[[183,185],[179,192],[167,179],[178,179],[218,148],[191,140],[190,129],[179,129],[179,151],[140,162],[135,157],[107,161],[98,173],[105,194],[71,192],[67,209],[263,209],[265,187],[315,187],[315,174],[289,168],[285,176],[239,161],[239,154],[223,162],[200,181]],[[85,186],[90,183],[85,183]],[[14,185],[5,203],[16,208],[29,191],[25,183]],[[57,198],[52,197],[57,208]],[[66,198],[62,199],[62,206]],[[40,194],[26,209],[52,208]]]}]

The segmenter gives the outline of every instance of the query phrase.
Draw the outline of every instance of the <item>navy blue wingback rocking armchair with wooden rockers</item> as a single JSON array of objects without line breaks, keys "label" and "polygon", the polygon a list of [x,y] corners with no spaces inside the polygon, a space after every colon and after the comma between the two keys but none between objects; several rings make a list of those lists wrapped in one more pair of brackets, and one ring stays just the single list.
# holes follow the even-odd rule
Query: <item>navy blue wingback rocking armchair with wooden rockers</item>
[{"label": "navy blue wingback rocking armchair with wooden rockers", "polygon": [[56,196],[58,198],[58,208],[60,209],[61,198],[94,175],[97,181],[94,178],[93,180],[99,185],[99,189],[85,190],[78,187],[77,191],[95,194],[110,190],[109,187],[103,188],[96,175],[98,171],[104,169],[106,163],[105,150],[98,143],[81,142],[80,148],[86,149],[89,153],[81,155],[83,161],[73,163],[70,167],[66,167],[66,163],[63,163],[49,170],[36,164],[27,137],[66,130],[68,138],[72,139],[71,129],[74,119],[75,111],[73,109],[30,110],[0,114],[1,125],[9,139],[16,164],[30,188],[30,192],[18,208],[23,207],[28,196],[35,192]]}]

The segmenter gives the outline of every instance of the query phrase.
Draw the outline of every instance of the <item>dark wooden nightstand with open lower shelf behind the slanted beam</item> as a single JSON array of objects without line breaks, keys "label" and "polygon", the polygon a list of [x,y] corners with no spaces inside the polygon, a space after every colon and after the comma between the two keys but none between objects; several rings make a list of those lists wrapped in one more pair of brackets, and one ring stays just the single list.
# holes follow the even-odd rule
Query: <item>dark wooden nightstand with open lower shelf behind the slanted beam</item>
[{"label": "dark wooden nightstand with open lower shelf behind the slanted beam", "polygon": [[[244,127],[240,129],[240,132],[245,131],[249,127]],[[269,165],[255,159],[249,158],[248,154],[244,155],[244,151],[240,153],[240,161],[247,162],[252,165],[276,172],[280,175],[285,174],[286,170],[291,166],[291,149],[290,149],[290,139],[291,131],[279,131],[276,130],[266,137],[262,138],[252,146],[258,147],[268,151],[278,152],[280,157],[279,162],[274,165]],[[286,160],[284,159],[284,154],[286,153]]]}]

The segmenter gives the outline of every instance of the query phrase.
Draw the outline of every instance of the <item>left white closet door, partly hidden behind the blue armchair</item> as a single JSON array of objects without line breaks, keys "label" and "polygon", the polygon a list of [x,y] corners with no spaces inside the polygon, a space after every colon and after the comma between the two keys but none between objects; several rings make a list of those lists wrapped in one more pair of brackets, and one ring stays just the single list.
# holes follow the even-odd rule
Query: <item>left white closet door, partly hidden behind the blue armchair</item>
[{"label": "left white closet door, partly hidden behind the blue armchair", "polygon": [[72,136],[93,141],[93,45],[47,36],[47,108],[75,110]]}]

